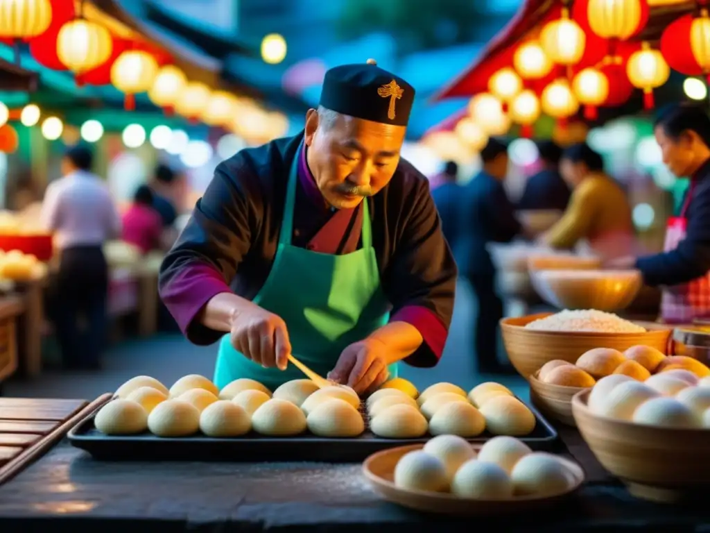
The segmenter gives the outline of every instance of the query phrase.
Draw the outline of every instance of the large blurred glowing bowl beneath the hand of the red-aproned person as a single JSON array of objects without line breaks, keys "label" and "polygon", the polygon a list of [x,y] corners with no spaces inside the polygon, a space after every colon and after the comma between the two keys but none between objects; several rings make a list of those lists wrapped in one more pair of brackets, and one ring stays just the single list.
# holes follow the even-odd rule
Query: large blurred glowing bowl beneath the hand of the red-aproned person
[{"label": "large blurred glowing bowl beneath the hand of the red-aproned person", "polygon": [[643,286],[638,270],[533,270],[530,280],[540,298],[559,309],[620,311]]}]

